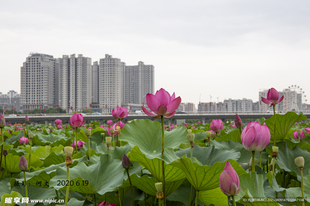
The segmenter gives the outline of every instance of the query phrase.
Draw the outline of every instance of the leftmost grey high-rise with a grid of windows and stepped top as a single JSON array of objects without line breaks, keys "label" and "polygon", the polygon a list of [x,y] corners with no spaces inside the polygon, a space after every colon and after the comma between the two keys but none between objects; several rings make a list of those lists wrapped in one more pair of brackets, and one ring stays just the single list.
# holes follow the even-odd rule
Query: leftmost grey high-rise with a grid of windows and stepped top
[{"label": "leftmost grey high-rise with a grid of windows and stepped top", "polygon": [[51,55],[30,53],[20,67],[20,106],[22,110],[55,107],[58,101],[55,80],[56,59]]}]

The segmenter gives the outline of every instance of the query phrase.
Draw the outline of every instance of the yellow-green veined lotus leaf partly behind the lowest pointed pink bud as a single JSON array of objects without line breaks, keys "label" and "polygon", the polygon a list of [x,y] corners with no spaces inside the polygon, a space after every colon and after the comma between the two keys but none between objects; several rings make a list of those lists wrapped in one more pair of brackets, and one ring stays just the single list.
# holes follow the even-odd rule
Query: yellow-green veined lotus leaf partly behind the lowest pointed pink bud
[{"label": "yellow-green veined lotus leaf partly behind the lowest pointed pink bud", "polygon": [[[228,161],[238,175],[246,172],[235,160],[229,159]],[[202,165],[196,158],[182,157],[170,164],[180,168],[197,191],[206,191],[219,187],[219,176],[226,162],[215,162],[213,166],[207,166]]]}]

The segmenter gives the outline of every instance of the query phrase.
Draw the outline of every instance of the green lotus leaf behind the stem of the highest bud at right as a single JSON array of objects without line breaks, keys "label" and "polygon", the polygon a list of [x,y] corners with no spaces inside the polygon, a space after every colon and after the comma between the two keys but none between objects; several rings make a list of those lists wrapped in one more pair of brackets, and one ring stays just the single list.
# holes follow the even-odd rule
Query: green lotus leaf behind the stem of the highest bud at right
[{"label": "green lotus leaf behind the stem of the highest bud at right", "polygon": [[[296,114],[293,111],[288,111],[284,115],[276,114],[276,141],[283,141],[286,134],[290,131],[295,122],[306,120],[307,117],[303,114]],[[271,139],[273,142],[274,135],[274,115],[264,121],[270,129]]]}]

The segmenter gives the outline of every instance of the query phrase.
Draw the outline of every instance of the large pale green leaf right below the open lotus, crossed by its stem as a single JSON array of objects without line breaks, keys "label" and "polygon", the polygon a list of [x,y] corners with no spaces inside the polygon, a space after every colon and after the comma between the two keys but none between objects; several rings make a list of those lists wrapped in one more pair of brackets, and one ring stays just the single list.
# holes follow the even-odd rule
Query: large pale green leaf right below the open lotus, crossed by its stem
[{"label": "large pale green leaf right below the open lotus, crossed by its stem", "polygon": [[[185,126],[179,126],[170,132],[164,131],[164,148],[179,148],[187,143]],[[134,120],[126,124],[119,136],[120,140],[128,141],[130,148],[138,145],[141,152],[160,158],[162,151],[162,124],[151,120]]]}]

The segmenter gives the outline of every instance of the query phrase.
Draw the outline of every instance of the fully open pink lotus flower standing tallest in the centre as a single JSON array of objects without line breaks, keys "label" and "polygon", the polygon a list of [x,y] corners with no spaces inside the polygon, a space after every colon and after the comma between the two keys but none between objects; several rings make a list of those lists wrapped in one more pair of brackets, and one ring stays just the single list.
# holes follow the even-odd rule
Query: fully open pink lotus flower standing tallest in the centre
[{"label": "fully open pink lotus flower standing tallest in the centre", "polygon": [[163,88],[158,90],[155,95],[148,93],[145,98],[148,108],[154,113],[141,106],[142,110],[146,115],[152,116],[156,119],[160,116],[166,118],[173,117],[176,113],[175,110],[181,103],[181,97],[175,98],[175,93],[170,96],[170,94]]}]

